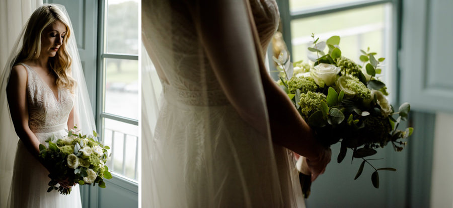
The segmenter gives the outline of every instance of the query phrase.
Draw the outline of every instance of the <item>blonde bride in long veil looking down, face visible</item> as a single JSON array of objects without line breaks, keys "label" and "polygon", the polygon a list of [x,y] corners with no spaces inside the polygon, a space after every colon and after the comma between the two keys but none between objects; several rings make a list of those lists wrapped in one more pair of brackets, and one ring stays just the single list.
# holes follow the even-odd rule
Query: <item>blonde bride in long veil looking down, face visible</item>
[{"label": "blonde bride in long veil looking down, face visible", "polygon": [[74,126],[84,133],[95,129],[72,33],[64,7],[39,7],[23,29],[3,72],[2,93],[6,89],[7,99],[2,96],[0,101],[7,101],[9,109],[2,108],[2,117],[5,111],[10,112],[14,129],[7,129],[7,123],[2,122],[1,130],[15,130],[20,139],[8,207],[82,207],[78,185],[60,180],[60,186],[72,188],[70,194],[46,192],[52,169],[38,157],[39,144],[45,144],[52,135],[67,135],[67,129]]}]

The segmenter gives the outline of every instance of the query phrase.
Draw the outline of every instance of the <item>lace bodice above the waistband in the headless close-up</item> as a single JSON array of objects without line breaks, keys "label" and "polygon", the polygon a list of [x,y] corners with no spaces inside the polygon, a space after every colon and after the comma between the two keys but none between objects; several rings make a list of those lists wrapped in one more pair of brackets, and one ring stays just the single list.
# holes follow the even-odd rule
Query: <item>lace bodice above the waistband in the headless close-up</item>
[{"label": "lace bodice above the waistband in the headless close-up", "polygon": [[[161,65],[164,96],[188,105],[222,105],[228,102],[214,75],[196,31],[196,21],[181,1],[153,4],[143,14],[143,38],[152,42]],[[238,3],[240,4],[240,3]],[[277,29],[279,12],[275,0],[250,0],[262,51]],[[167,8],[171,7],[171,9]],[[171,31],[172,35],[168,35]],[[158,40],[158,41],[157,41]],[[264,54],[263,54],[264,55]],[[158,68],[159,71],[159,68]]]}]

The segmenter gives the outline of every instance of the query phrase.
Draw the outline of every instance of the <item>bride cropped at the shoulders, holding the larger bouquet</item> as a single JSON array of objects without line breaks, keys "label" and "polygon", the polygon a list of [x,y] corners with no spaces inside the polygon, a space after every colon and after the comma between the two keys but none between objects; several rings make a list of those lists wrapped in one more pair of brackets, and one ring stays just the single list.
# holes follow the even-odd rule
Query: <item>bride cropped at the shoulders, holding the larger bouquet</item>
[{"label": "bride cropped at the shoulders, holding the larger bouquet", "polygon": [[157,122],[142,107],[143,207],[305,206],[291,151],[314,180],[330,150],[266,71],[278,22],[275,1],[142,2],[163,88]]}]

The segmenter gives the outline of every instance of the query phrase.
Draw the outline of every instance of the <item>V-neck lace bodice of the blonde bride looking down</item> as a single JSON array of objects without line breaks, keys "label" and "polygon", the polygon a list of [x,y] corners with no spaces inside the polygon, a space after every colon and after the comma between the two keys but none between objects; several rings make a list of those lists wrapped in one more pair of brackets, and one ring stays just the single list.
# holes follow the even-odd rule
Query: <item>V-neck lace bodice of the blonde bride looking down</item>
[{"label": "V-neck lace bodice of the blonde bride looking down", "polygon": [[55,97],[50,87],[39,77],[33,68],[27,68],[28,82],[28,125],[35,133],[59,131],[67,127],[69,112],[74,104],[73,95],[68,89],[58,88]]}]

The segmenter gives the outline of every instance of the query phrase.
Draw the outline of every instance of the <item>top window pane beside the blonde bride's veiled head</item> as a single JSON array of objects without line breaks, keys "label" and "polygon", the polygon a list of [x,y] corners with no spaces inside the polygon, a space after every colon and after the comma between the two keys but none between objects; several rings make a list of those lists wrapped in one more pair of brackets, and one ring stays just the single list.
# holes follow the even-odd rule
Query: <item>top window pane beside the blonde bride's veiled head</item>
[{"label": "top window pane beside the blonde bride's veiled head", "polygon": [[138,28],[138,0],[108,0],[108,53],[138,54]]}]

